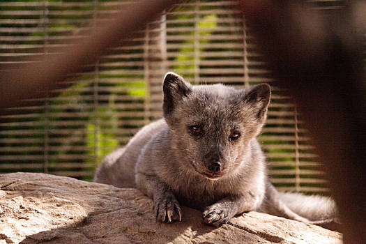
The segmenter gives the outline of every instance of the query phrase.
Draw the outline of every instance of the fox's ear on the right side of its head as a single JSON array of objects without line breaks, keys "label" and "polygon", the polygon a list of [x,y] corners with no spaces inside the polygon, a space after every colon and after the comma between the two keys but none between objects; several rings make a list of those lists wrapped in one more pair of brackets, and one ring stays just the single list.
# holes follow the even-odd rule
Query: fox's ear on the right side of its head
[{"label": "fox's ear on the right side of its head", "polygon": [[253,86],[245,95],[245,103],[255,108],[257,119],[266,119],[270,100],[270,86],[268,84],[259,84]]}]

